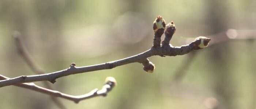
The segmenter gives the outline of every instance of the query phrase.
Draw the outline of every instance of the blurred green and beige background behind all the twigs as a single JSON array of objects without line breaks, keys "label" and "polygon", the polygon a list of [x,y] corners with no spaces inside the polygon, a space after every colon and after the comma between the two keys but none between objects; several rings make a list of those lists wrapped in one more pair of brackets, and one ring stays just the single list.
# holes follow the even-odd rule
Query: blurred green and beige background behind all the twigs
[{"label": "blurred green and beige background behind all the twigs", "polygon": [[[0,73],[34,74],[17,52],[14,31],[50,73],[72,62],[94,65],[148,50],[158,15],[176,24],[174,46],[230,28],[256,29],[255,0],[0,0]],[[101,88],[108,76],[116,78],[107,97],[79,104],[60,98],[68,109],[255,109],[255,47],[255,41],[235,40],[196,51],[178,84],[175,72],[190,55],[150,57],[152,74],[133,63],[58,78],[51,85],[81,95]],[[48,95],[16,86],[0,88],[0,101],[0,109],[58,109]]]}]

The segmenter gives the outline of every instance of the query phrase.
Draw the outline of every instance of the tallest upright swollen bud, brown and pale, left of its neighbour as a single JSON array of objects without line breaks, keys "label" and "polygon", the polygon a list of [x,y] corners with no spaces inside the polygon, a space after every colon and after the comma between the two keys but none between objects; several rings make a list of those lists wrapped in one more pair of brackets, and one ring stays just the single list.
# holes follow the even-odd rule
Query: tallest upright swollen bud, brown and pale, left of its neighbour
[{"label": "tallest upright swollen bud, brown and pale, left of its neighbour", "polygon": [[165,30],[165,20],[163,20],[162,16],[157,16],[157,19],[155,19],[153,23],[153,30],[157,32],[157,30],[161,28]]}]

